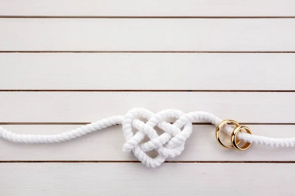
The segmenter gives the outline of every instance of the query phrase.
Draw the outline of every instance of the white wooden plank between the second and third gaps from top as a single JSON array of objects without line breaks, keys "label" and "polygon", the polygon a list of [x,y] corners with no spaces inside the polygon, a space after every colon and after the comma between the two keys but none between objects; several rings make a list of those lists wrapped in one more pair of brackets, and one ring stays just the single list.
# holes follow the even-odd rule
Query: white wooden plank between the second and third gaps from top
[{"label": "white wooden plank between the second and third gaps from top", "polygon": [[295,53],[4,52],[0,89],[295,90],[294,62]]}]

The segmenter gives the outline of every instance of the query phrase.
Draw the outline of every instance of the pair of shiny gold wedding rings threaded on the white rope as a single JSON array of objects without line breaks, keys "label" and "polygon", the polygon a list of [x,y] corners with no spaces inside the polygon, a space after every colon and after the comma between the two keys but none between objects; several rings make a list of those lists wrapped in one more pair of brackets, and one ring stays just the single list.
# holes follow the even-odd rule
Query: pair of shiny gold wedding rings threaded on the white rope
[{"label": "pair of shiny gold wedding rings threaded on the white rope", "polygon": [[[236,125],[236,128],[234,129],[234,131],[232,132],[231,134],[231,139],[232,139],[232,146],[227,146],[225,144],[223,144],[220,140],[220,137],[219,137],[219,133],[220,133],[220,129],[223,125],[225,125],[226,123],[233,123],[234,125]],[[237,123],[236,121],[234,120],[225,120],[225,121],[222,121],[220,124],[218,124],[217,128],[216,128],[216,133],[215,133],[215,136],[216,136],[216,140],[218,142],[218,144],[220,144],[220,146],[222,147],[225,147],[225,148],[236,148],[237,150],[245,150],[245,149],[248,149],[248,147],[251,146],[251,143],[246,143],[243,147],[239,147],[238,144],[241,142],[239,140],[236,140],[236,135],[237,133],[240,131],[242,132],[243,130],[245,130],[247,133],[249,134],[252,134],[251,130],[245,126],[245,125],[240,125],[239,123]]]}]

